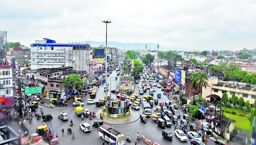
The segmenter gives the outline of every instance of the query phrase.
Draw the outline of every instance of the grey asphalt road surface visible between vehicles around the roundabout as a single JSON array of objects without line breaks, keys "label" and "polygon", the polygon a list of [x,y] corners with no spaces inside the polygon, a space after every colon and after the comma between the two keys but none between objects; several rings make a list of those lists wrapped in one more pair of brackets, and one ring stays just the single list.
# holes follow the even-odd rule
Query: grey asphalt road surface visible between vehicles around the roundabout
[{"label": "grey asphalt road surface visible between vehicles around the roundabout", "polygon": [[[118,85],[118,81],[119,81],[119,76],[118,76],[118,81],[115,80],[116,77],[116,72],[114,71],[109,77],[108,77],[108,82],[110,85],[110,78],[111,78],[111,88],[109,86],[109,92],[108,94],[110,94],[110,90],[113,90],[116,88],[116,82]],[[94,86],[94,90],[96,90],[96,87]],[[144,93],[144,95],[149,95],[148,94],[149,90],[147,90],[146,93]],[[138,92],[138,87],[137,84],[135,86],[135,92],[139,94]],[[163,95],[163,92],[161,91],[161,88],[157,88],[156,87],[156,91],[154,92],[154,98],[157,98],[156,94],[157,93],[161,93],[162,96],[161,98],[159,98],[159,102],[165,102],[168,101],[167,96]],[[99,100],[100,98],[104,98],[104,86],[100,86],[100,89],[97,91],[97,95],[95,100]],[[115,94],[112,93],[111,95],[112,97],[115,97]],[[142,96],[142,95],[140,95]],[[97,112],[98,109],[100,109],[100,107],[96,107],[94,104],[86,104],[86,100],[89,96],[87,95],[86,97],[83,97],[83,101],[85,102],[85,105],[83,106],[83,108],[88,108],[89,111],[94,111],[95,113]],[[46,106],[49,106],[49,100],[45,100],[45,104]],[[80,128],[79,125],[81,123],[84,122],[88,122],[90,125],[93,124],[94,120],[98,120],[97,118],[93,118],[92,120],[89,120],[89,118],[85,118],[84,120],[81,120],[81,117],[78,117],[75,113],[75,107],[72,106],[72,103],[74,102],[74,99],[71,98],[70,100],[68,100],[68,106],[55,106],[54,108],[47,108],[44,107],[44,114],[51,114],[53,116],[53,119],[51,119],[50,121],[52,122],[52,128],[53,128],[53,132],[54,135],[56,135],[56,133],[58,133],[58,137],[59,137],[59,142],[61,144],[102,144],[102,139],[99,137],[99,133],[97,132],[97,128],[92,127],[91,132],[88,133],[84,133]],[[155,105],[152,108],[152,111],[156,108]],[[40,107],[40,105],[39,105]],[[39,114],[41,114],[41,111],[39,109],[39,107],[36,109],[38,111]],[[142,108],[140,110],[138,110],[139,113],[142,113]],[[62,121],[61,119],[58,118],[58,114],[61,112],[66,112],[69,115],[69,119],[67,121]],[[34,111],[33,111],[34,114]],[[183,113],[180,113],[180,116],[183,116]],[[67,128],[70,126],[70,120],[73,120],[73,126],[72,131],[74,132],[75,135],[75,139],[71,139],[72,134],[67,132]],[[105,119],[105,118],[104,118]],[[103,119],[103,121],[104,121]],[[29,123],[29,121],[25,121],[27,124],[27,127],[30,131],[30,134],[35,133],[37,126],[41,126],[42,123],[44,122],[42,119],[37,120],[36,118],[33,119],[32,123]],[[180,118],[178,119],[178,125],[180,122]],[[47,124],[47,122],[45,122]],[[106,125],[108,125],[107,123],[104,123]],[[162,131],[164,130],[163,128],[160,128],[157,126],[156,123],[151,121],[151,118],[147,118],[147,122],[146,124],[141,122],[140,119],[130,123],[130,124],[126,124],[126,125],[109,125],[110,127],[114,128],[115,130],[123,133],[125,136],[127,136],[128,134],[130,135],[132,142],[126,142],[125,140],[125,144],[134,144],[134,140],[136,139],[136,134],[137,132],[140,132],[140,134],[143,134],[146,138],[155,141],[157,143],[160,144],[190,144],[190,138],[188,138],[187,142],[181,142],[179,141],[179,139],[174,135],[173,133],[173,141],[170,142],[166,139],[164,139],[162,137]],[[62,135],[62,128],[64,128],[64,135]],[[174,132],[174,126],[172,125],[172,127],[165,127],[165,129],[171,130],[172,132]],[[105,143],[107,144],[107,143]],[[145,144],[144,142],[140,141],[139,144]],[[212,144],[211,142],[208,142],[208,144]]]}]

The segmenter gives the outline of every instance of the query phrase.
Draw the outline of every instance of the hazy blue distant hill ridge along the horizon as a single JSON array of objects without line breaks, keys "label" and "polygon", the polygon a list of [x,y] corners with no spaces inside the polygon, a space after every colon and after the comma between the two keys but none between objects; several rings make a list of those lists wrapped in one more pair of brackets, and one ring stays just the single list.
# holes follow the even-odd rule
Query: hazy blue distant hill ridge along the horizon
[{"label": "hazy blue distant hill ridge along the horizon", "polygon": [[[114,47],[118,49],[124,49],[124,50],[137,50],[137,49],[144,49],[146,43],[121,43],[121,42],[115,42],[115,41],[108,41],[108,47]],[[97,41],[91,41],[91,47],[99,47],[99,46],[106,46],[106,42],[97,42]],[[147,48],[154,50],[157,50],[157,44],[155,43],[147,43]],[[179,48],[172,48],[172,47],[164,47],[159,45],[159,50],[179,50]]]}]

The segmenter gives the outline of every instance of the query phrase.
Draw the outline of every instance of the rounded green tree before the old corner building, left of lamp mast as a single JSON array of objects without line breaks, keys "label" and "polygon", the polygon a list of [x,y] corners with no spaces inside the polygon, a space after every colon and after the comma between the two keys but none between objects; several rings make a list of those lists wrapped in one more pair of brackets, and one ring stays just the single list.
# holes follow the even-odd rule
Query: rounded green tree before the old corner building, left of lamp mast
[{"label": "rounded green tree before the old corner building, left of lamp mast", "polygon": [[79,75],[70,74],[66,79],[64,79],[63,86],[68,87],[69,89],[76,88],[76,90],[81,91],[83,88],[83,80],[80,78]]}]

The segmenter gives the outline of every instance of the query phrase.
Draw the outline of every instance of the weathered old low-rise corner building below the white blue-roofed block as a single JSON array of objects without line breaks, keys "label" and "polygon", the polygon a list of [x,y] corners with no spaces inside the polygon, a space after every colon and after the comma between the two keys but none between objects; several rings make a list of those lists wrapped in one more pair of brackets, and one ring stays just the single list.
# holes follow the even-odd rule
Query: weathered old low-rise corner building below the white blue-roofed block
[{"label": "weathered old low-rise corner building below the white blue-roofed block", "polygon": [[73,72],[72,67],[43,68],[37,70],[37,85],[44,88],[44,94],[49,98],[65,95],[67,87],[63,87],[67,74]]}]

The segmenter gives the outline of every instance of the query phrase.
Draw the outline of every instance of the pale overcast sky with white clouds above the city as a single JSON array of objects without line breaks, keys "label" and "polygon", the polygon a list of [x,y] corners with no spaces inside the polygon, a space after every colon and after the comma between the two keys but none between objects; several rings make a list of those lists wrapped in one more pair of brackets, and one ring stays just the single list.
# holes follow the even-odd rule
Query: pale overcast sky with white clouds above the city
[{"label": "pale overcast sky with white clouds above the city", "polygon": [[256,48],[256,1],[1,1],[0,30],[29,46],[108,41],[194,49]]}]

